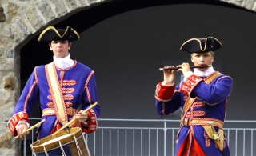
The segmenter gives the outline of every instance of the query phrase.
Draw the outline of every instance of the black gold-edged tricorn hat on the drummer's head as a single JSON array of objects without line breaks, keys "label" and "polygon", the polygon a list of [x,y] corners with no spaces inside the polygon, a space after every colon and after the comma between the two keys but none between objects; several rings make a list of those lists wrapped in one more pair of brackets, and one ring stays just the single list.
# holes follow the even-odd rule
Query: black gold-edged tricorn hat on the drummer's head
[{"label": "black gold-edged tricorn hat on the drummer's head", "polygon": [[54,26],[49,26],[39,35],[39,42],[51,42],[58,40],[68,40],[70,42],[76,41],[80,38],[78,32],[72,29],[70,26],[66,27],[66,30],[56,29]]}]

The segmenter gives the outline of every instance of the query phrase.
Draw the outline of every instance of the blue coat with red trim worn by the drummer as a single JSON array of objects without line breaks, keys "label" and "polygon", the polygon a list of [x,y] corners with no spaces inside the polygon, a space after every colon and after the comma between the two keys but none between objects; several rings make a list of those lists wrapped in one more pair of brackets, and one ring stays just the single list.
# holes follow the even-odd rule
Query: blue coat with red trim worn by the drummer
[{"label": "blue coat with red trim worn by the drummer", "polygon": [[[74,61],[74,65],[67,69],[63,70],[57,66],[54,66],[54,69],[57,71],[60,90],[64,98],[66,118],[70,121],[74,114],[78,113],[79,106],[82,105],[81,110],[86,110],[90,105],[97,102],[94,71],[77,61]],[[17,135],[15,126],[18,125],[18,122],[30,123],[28,115],[38,98],[43,112],[42,119],[46,119],[46,122],[38,127],[38,139],[53,134],[63,126],[62,121],[56,115],[58,110],[50,92],[49,74],[46,72],[46,66],[36,66],[26,82],[26,86],[14,108],[12,118],[7,123],[14,136]],[[88,110],[88,114],[89,121],[79,122],[76,126],[81,127],[85,133],[92,133],[98,128],[97,118],[100,114],[100,106],[94,106],[94,108]]]}]

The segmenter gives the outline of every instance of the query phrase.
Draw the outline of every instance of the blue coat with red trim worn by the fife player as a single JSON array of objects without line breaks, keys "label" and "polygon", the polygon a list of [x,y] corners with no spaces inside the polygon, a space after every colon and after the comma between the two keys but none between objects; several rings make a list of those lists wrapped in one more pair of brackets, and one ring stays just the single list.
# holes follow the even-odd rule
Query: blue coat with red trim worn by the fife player
[{"label": "blue coat with red trim worn by the fife player", "polygon": [[155,107],[160,115],[183,110],[185,103],[191,100],[178,130],[176,155],[230,155],[226,135],[223,138],[223,150],[220,151],[203,128],[212,121],[216,123],[214,129],[217,133],[222,129],[227,100],[233,86],[232,78],[224,74],[219,74],[206,83],[205,80],[212,74],[204,79],[192,74],[177,86],[162,86],[162,82],[159,82],[156,87]]}]

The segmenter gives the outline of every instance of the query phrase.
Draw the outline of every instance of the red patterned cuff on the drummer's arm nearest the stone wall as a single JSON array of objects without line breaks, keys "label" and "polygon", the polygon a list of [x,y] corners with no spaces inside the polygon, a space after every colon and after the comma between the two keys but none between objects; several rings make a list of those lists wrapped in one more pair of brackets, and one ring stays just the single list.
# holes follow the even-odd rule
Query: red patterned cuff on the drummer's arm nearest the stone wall
[{"label": "red patterned cuff on the drummer's arm nearest the stone wall", "polygon": [[17,114],[14,114],[10,120],[7,122],[7,126],[11,132],[11,134],[14,135],[14,137],[17,135],[17,131],[15,129],[15,126],[17,126],[18,122],[21,120],[26,120],[26,122],[30,123],[30,120],[28,118],[28,115],[26,112],[18,112]]}]

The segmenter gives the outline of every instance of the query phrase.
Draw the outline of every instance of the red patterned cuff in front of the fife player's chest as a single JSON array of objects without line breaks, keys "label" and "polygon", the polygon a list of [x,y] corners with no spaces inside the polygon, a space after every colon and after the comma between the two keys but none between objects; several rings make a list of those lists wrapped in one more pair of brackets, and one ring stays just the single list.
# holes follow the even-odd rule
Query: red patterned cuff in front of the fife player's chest
[{"label": "red patterned cuff in front of the fife player's chest", "polygon": [[197,86],[202,79],[194,74],[192,74],[189,78],[186,79],[185,82],[182,83],[181,92],[183,94],[189,95],[190,92],[194,89],[194,86]]}]

